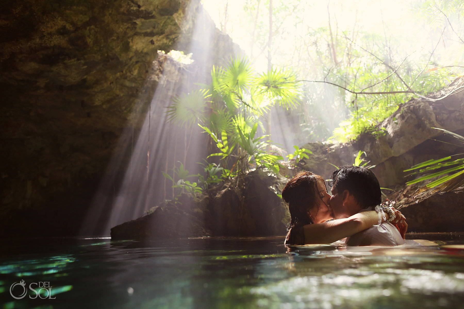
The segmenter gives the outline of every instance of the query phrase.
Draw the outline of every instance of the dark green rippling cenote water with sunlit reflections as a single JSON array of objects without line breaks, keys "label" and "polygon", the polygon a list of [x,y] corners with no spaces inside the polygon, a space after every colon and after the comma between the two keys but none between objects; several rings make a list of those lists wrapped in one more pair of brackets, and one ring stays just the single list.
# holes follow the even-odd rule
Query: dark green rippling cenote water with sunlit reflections
[{"label": "dark green rippling cenote water with sunlit reflections", "polygon": [[[446,248],[463,244],[464,233],[410,237],[445,246],[287,248],[282,237],[2,240],[0,309],[464,308],[464,249]],[[9,290],[20,280],[27,294],[15,300]],[[29,284],[43,282],[52,296],[44,288],[45,299],[29,298],[37,296]]]}]

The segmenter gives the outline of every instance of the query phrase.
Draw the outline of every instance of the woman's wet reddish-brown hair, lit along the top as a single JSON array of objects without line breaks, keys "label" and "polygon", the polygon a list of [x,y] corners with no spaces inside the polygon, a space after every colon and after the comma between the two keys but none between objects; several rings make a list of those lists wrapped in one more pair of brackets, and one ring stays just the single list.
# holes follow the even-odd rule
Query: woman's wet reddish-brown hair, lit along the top
[{"label": "woman's wet reddish-brown hair, lit along the top", "polygon": [[[317,181],[324,179],[309,171],[301,171],[290,179],[282,190],[282,199],[290,211],[290,228],[314,223],[308,211],[319,205],[321,197],[317,192]],[[325,183],[324,183],[325,184]],[[316,206],[317,207],[317,206]]]}]

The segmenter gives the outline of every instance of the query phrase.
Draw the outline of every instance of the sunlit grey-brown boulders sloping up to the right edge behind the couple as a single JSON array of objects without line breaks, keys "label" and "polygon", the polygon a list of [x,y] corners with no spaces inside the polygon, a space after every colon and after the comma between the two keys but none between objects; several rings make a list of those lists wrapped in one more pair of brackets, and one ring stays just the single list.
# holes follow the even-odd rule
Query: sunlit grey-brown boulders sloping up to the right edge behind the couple
[{"label": "sunlit grey-brown boulders sloping up to the right edge behind the couple", "polygon": [[425,160],[458,153],[457,146],[431,140],[451,141],[442,136],[442,131],[431,127],[464,133],[464,92],[459,92],[463,83],[462,79],[458,79],[447,88],[429,95],[436,101],[412,100],[401,104],[396,112],[377,126],[378,130],[385,128],[377,136],[362,134],[356,141],[343,145],[320,142],[303,145],[313,151],[313,155],[303,160],[300,168],[329,179],[335,170],[331,164],[353,164],[355,155],[361,150],[366,151],[369,165],[376,165],[372,170],[381,187],[393,188],[406,183],[411,178],[407,178],[403,170]]}]

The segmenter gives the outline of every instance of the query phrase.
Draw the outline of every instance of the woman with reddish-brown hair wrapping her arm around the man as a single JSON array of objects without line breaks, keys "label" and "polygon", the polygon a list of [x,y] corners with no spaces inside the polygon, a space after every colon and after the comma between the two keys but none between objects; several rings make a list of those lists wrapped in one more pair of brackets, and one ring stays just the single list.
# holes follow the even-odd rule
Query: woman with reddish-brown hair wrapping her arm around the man
[{"label": "woman with reddish-brown hair wrapping her arm around the man", "polygon": [[[374,210],[333,220],[330,197],[324,179],[309,171],[298,172],[285,185],[282,198],[291,217],[286,245],[330,244],[378,224],[378,214]],[[395,212],[404,218],[400,212]]]}]

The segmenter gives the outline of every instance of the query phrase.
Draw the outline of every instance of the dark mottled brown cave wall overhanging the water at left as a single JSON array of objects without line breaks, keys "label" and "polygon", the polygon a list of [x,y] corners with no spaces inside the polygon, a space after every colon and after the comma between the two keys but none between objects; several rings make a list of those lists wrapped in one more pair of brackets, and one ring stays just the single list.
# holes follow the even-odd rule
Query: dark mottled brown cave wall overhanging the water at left
[{"label": "dark mottled brown cave wall overhanging the water at left", "polygon": [[[140,129],[157,86],[148,78],[157,50],[190,52],[193,12],[202,7],[199,0],[0,7],[0,237],[75,235],[111,156],[126,150],[118,149],[124,128]],[[214,32],[204,48],[220,55],[205,65],[237,49],[211,19],[202,26]]]}]

